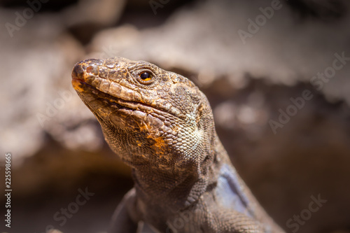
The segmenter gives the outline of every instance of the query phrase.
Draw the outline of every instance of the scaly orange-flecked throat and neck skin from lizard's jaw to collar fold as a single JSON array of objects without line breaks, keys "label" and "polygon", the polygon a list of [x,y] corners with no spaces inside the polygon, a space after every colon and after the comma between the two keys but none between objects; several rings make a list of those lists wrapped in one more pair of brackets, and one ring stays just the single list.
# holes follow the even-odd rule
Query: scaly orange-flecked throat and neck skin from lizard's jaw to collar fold
[{"label": "scaly orange-flecked throat and neck skin from lizard's jaw to collar fold", "polygon": [[137,197],[144,203],[184,209],[217,180],[214,124],[204,124],[198,141],[181,152],[142,132],[118,129],[101,119],[100,123],[109,146],[132,167]]}]

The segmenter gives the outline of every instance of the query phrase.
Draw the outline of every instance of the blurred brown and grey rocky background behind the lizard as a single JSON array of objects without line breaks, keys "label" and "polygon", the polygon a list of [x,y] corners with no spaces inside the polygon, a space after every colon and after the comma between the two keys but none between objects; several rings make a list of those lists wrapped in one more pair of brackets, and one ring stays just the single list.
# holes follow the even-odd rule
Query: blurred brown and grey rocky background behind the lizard
[{"label": "blurred brown and grey rocky background behind the lizard", "polygon": [[239,174],[286,232],[350,232],[349,10],[346,0],[0,1],[1,193],[5,153],[13,165],[11,228],[1,219],[0,232],[106,232],[130,169],[71,69],[114,56],[200,86]]}]

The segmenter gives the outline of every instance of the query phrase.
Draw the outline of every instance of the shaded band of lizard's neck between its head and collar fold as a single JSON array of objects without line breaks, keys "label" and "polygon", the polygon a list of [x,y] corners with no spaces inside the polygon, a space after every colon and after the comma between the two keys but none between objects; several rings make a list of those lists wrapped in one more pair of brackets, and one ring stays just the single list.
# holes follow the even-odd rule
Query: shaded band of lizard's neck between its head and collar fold
[{"label": "shaded band of lizard's neck between its head and collar fold", "polygon": [[188,167],[182,172],[151,166],[132,169],[138,197],[145,203],[167,204],[167,208],[173,210],[184,209],[197,202],[204,192],[215,187],[219,167],[228,160],[218,138],[214,141],[214,149],[207,151],[207,160],[199,169]]}]

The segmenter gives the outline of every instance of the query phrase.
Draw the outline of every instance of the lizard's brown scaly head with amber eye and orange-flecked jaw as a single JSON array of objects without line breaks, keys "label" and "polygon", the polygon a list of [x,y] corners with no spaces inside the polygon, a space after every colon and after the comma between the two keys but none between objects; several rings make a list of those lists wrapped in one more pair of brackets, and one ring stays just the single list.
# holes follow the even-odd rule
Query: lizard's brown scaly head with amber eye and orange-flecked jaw
[{"label": "lizard's brown scaly head with amber eye and orange-flecked jaw", "polygon": [[200,169],[212,153],[211,107],[188,78],[121,57],[78,62],[72,78],[107,143],[131,167]]}]

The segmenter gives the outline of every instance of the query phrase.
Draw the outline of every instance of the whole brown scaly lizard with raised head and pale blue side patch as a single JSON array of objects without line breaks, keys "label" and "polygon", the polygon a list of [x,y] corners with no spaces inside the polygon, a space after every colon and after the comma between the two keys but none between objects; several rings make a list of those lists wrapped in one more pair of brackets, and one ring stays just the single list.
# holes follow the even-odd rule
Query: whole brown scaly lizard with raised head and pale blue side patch
[{"label": "whole brown scaly lizard with raised head and pale blue side patch", "polygon": [[[85,59],[72,85],[134,188],[109,232],[283,232],[233,167],[207,97],[188,78],[123,57]],[[140,224],[141,223],[141,224]]]}]

